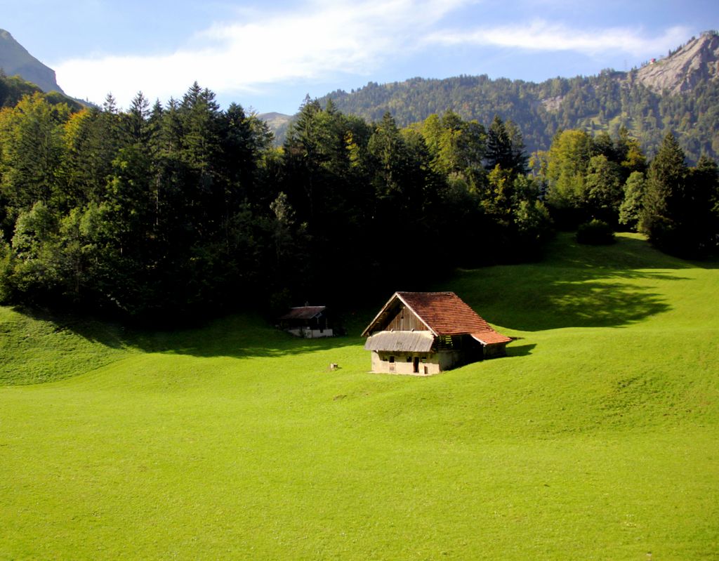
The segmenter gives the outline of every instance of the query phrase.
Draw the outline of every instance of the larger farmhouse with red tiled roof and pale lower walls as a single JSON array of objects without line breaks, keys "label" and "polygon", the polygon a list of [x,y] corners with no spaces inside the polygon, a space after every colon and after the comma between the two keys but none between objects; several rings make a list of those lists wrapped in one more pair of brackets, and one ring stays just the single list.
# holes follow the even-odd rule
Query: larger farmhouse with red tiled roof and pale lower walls
[{"label": "larger farmhouse with red tiled roof and pale lower walls", "polygon": [[395,292],[362,336],[372,372],[414,375],[503,357],[512,340],[454,292]]}]

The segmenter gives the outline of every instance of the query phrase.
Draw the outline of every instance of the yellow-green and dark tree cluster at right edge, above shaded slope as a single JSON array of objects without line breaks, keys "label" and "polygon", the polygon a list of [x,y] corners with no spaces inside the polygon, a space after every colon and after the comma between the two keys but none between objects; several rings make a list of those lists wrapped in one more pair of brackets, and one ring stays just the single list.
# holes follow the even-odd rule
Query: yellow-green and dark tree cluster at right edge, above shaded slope
[{"label": "yellow-green and dark tree cluster at right edge, above shaded slope", "polygon": [[688,166],[671,132],[647,163],[625,127],[614,139],[606,132],[559,131],[532,164],[559,227],[595,219],[611,229],[643,232],[681,257],[706,257],[717,247],[717,163],[701,155]]}]

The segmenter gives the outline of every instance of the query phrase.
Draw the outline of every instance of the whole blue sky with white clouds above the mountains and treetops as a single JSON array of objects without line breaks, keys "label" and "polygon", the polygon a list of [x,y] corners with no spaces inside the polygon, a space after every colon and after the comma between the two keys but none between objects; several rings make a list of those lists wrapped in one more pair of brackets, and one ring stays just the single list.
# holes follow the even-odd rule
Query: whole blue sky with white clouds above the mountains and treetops
[{"label": "whole blue sky with white clouds above the mountains and treetops", "polygon": [[719,29],[717,0],[0,0],[0,14],[70,96],[165,103],[197,81],[221,106],[285,114],[370,81],[629,70]]}]

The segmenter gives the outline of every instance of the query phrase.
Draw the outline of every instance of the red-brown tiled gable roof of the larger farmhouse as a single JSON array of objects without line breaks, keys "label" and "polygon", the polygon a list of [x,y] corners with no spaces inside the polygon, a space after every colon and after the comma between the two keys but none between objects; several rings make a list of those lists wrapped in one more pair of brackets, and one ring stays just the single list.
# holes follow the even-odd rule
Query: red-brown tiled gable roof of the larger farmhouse
[{"label": "red-brown tiled gable roof of the larger farmhouse", "polygon": [[400,301],[426,325],[435,336],[463,335],[472,337],[485,345],[508,343],[512,339],[496,332],[487,321],[467,306],[454,292],[395,292],[367,326],[363,336],[382,329],[390,317],[390,311]]}]

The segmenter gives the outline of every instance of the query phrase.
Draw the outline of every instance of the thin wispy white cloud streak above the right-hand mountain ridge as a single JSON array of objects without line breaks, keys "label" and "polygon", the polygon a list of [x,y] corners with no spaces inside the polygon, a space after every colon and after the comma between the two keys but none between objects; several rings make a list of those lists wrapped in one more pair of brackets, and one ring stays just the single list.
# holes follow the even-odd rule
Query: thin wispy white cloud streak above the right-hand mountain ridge
[{"label": "thin wispy white cloud streak above the right-hand mountain ridge", "polygon": [[431,33],[428,44],[493,45],[526,50],[576,51],[588,55],[623,52],[632,55],[661,53],[684,42],[689,30],[671,27],[658,37],[646,37],[636,29],[572,29],[564,24],[536,21],[531,24],[501,27],[479,27],[471,31]]}]

